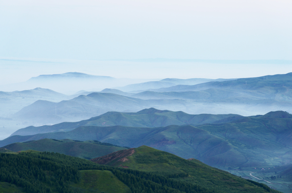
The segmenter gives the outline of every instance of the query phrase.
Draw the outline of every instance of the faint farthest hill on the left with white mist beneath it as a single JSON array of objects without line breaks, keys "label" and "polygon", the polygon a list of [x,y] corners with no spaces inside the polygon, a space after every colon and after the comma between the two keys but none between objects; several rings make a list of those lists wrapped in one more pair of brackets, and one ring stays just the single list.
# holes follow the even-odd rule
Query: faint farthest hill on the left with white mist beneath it
[{"label": "faint farthest hill on the left with white mist beneath it", "polygon": [[134,83],[160,79],[129,79],[97,76],[80,72],[62,74],[41,74],[21,83],[1,85],[0,90],[24,90],[33,88],[49,88],[65,94],[73,94],[79,90],[100,91],[104,88],[123,87]]}]

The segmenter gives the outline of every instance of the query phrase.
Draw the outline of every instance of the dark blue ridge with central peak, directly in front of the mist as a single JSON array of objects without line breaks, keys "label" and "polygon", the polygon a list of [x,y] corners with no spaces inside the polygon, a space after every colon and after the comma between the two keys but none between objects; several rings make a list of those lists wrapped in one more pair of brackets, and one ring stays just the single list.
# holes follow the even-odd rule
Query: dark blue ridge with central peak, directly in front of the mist
[{"label": "dark blue ridge with central peak, directly in front of the mist", "polygon": [[214,123],[220,120],[232,120],[240,118],[242,116],[235,114],[227,115],[212,115],[212,114],[200,114],[190,115],[182,111],[173,112],[169,110],[158,110],[155,108],[149,108],[141,110],[137,113],[123,113],[123,112],[107,112],[103,115],[93,117],[89,120],[80,122],[65,122],[55,125],[43,125],[39,127],[29,126],[19,129],[14,132],[13,135],[35,135],[38,133],[50,133],[60,131],[70,131],[79,126],[130,126],[130,127],[164,127],[168,125],[183,125],[193,124],[199,125],[204,123]]}]

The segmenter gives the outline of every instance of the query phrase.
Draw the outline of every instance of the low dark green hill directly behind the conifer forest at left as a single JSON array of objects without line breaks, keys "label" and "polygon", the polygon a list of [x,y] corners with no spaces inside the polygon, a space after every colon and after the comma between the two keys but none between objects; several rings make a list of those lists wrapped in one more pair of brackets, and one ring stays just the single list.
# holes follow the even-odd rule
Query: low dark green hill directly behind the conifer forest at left
[{"label": "low dark green hill directly behind the conifer forest at left", "polygon": [[12,143],[3,147],[8,151],[35,150],[40,152],[55,152],[68,156],[91,159],[110,154],[115,151],[127,149],[99,141],[73,141],[73,140],[32,140],[22,143]]}]

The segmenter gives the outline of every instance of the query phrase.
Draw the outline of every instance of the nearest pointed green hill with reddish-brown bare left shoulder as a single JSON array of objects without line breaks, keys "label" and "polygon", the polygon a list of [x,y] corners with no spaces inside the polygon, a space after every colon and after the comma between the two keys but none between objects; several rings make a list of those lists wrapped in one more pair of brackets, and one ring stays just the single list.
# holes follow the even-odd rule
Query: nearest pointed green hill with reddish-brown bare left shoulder
[{"label": "nearest pointed green hill with reddish-brown bare left shoulder", "polygon": [[[215,190],[218,188],[217,190],[222,192],[229,192],[227,189],[222,189],[223,183],[218,180],[220,179],[219,176],[221,176],[224,179],[223,181],[229,183],[230,187],[236,187],[235,181],[233,181],[234,175],[202,164],[198,160],[189,161],[147,146],[121,150],[104,157],[91,159],[91,161],[98,164],[146,172],[171,173],[173,175],[187,173],[188,177],[184,179],[187,182],[204,184],[210,189]],[[239,179],[242,182],[246,181],[242,178]]]}]

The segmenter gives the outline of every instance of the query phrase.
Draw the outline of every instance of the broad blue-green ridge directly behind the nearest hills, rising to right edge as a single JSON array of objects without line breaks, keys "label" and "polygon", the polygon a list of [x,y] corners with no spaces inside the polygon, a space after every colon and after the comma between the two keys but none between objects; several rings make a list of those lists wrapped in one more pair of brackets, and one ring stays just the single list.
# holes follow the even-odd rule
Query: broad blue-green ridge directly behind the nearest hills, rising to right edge
[{"label": "broad blue-green ridge directly behind the nearest hills, rising to right edge", "polygon": [[81,126],[68,132],[11,136],[0,141],[0,146],[43,138],[99,140],[127,147],[145,144],[216,167],[282,165],[292,160],[292,119],[289,117],[289,113],[276,111],[198,126]]}]

